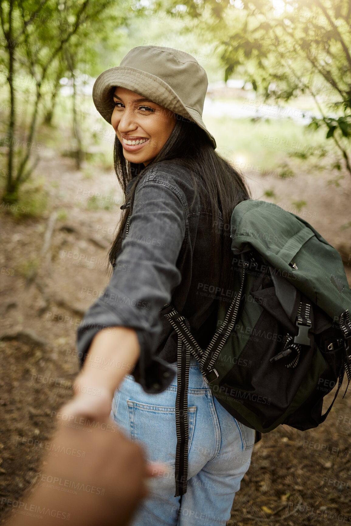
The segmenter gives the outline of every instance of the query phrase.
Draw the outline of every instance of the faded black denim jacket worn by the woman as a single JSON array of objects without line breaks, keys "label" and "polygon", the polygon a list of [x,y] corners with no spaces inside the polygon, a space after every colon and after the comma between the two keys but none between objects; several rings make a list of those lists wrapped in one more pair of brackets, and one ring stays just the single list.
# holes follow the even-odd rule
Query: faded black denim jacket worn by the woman
[{"label": "faded black denim jacket worn by the woman", "polygon": [[[127,191],[132,184],[133,179]],[[193,198],[192,178],[180,161],[162,161],[145,171],[111,280],[77,329],[81,366],[99,330],[131,327],[141,347],[135,380],[149,393],[166,389],[175,376],[167,363],[177,361],[176,332],[159,312],[167,303],[189,320],[200,347],[208,346],[216,331],[222,255],[218,250],[211,257],[212,216],[198,195],[190,208]],[[219,208],[217,221],[221,231]]]}]

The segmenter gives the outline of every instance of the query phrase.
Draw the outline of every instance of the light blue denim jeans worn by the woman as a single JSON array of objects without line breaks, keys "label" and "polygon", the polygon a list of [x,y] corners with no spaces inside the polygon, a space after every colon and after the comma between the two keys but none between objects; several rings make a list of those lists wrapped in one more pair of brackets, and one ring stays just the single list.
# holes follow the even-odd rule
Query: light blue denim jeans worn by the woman
[{"label": "light blue denim jeans worn by the woman", "polygon": [[[171,367],[177,369],[177,363]],[[177,377],[165,391],[151,395],[126,375],[115,392],[111,418],[132,441],[141,442],[148,462],[163,462],[168,468],[164,476],[149,481],[149,497],[139,504],[131,526],[212,526],[230,519],[255,432],[212,396],[193,357],[188,387],[188,483],[179,515],[180,497],[174,497]]]}]

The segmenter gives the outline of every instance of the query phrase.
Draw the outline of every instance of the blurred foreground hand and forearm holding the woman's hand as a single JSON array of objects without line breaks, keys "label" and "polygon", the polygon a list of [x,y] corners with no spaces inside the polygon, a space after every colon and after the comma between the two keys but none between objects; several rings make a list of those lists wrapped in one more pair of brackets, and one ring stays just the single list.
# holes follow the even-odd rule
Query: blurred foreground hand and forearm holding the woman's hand
[{"label": "blurred foreground hand and forearm holding the woman's hand", "polygon": [[[45,515],[46,526],[62,524],[63,519],[72,526],[127,526],[147,497],[147,479],[163,474],[162,465],[147,465],[142,447],[109,418],[87,419],[70,413],[69,404],[58,415],[50,441],[57,456],[45,457],[25,499],[28,509],[56,510]],[[37,517],[17,514],[11,525],[37,523]]]}]

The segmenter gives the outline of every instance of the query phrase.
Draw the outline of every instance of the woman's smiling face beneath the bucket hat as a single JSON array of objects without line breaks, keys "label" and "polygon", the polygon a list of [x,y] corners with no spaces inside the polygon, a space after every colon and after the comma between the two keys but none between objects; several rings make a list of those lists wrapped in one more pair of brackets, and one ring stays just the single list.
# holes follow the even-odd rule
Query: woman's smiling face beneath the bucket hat
[{"label": "woman's smiling face beneath the bucket hat", "polygon": [[125,159],[147,166],[171,135],[176,124],[174,112],[119,86],[113,100],[111,124],[122,143]]}]

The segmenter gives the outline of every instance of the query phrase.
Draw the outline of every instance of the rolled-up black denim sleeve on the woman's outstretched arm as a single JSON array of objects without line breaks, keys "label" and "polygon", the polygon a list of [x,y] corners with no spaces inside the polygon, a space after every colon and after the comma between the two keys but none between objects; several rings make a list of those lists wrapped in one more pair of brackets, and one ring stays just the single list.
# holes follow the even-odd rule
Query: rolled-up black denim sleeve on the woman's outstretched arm
[{"label": "rolled-up black denim sleeve on the woman's outstretched arm", "polygon": [[161,333],[159,309],[171,302],[182,279],[176,261],[186,224],[184,192],[167,174],[152,170],[136,188],[128,236],[122,241],[111,280],[77,329],[81,366],[99,330],[131,327],[141,348],[132,372],[135,381],[149,393],[161,392],[172,382],[174,369],[154,356],[154,350]]}]

